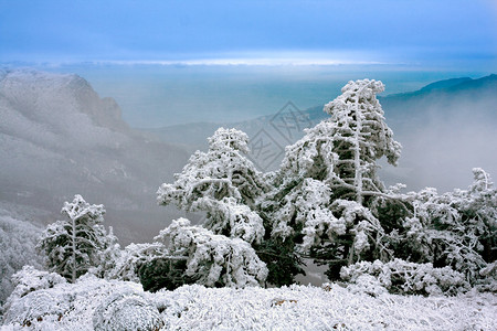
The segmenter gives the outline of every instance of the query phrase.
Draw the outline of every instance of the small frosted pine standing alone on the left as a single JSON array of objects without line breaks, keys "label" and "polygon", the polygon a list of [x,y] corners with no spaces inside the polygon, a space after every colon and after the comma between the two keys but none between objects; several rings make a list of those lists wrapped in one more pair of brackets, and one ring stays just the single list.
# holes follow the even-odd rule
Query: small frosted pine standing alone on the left
[{"label": "small frosted pine standing alone on the left", "polygon": [[44,255],[50,271],[74,282],[105,260],[107,248],[115,247],[117,238],[108,235],[104,222],[104,206],[87,203],[81,195],[65,202],[61,211],[64,221],[50,224],[36,248]]}]

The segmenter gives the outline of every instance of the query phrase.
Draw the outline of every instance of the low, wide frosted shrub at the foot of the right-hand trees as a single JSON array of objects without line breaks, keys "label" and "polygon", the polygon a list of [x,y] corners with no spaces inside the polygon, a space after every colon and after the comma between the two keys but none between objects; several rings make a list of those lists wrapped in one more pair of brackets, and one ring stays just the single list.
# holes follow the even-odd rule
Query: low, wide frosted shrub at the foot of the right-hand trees
[{"label": "low, wide frosted shrub at the foot of the right-hand trees", "polygon": [[343,267],[340,276],[352,284],[352,289],[371,295],[382,292],[379,287],[403,295],[455,295],[469,286],[462,273],[450,267],[434,268],[430,263],[415,264],[398,258],[388,263],[356,263]]}]

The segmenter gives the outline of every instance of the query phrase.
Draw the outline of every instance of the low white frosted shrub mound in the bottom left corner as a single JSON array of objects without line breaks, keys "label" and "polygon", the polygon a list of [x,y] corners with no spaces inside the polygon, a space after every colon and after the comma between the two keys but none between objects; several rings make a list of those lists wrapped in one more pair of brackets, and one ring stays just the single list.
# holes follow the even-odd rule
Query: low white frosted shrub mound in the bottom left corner
[{"label": "low white frosted shrub mound in the bottom left corner", "polygon": [[[139,284],[86,274],[71,284],[55,273],[25,267],[6,306],[13,330],[158,330],[157,305]],[[3,329],[2,329],[3,330]]]}]

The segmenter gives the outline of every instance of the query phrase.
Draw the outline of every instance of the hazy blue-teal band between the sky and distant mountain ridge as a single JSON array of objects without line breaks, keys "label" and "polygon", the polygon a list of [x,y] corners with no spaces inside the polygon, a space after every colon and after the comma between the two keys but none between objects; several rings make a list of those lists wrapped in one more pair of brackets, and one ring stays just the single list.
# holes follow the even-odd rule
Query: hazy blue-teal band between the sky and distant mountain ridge
[{"label": "hazy blue-teal band between the sky and distant mountain ridge", "polygon": [[385,92],[381,95],[387,96],[441,79],[491,74],[387,65],[32,63],[23,67],[80,75],[101,97],[114,98],[124,120],[134,128],[250,120],[275,114],[287,102],[307,109],[332,100],[351,79],[382,81]]}]

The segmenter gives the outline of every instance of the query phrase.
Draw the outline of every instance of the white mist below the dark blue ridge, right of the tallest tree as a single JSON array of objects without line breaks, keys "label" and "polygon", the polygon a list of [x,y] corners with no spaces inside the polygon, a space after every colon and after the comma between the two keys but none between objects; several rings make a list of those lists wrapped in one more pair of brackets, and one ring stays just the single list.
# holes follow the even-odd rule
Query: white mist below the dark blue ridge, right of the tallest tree
[{"label": "white mist below the dark blue ridge, right of the tallest tree", "polygon": [[430,186],[447,192],[466,189],[473,182],[473,168],[495,177],[495,86],[491,81],[478,89],[421,94],[399,105],[394,97],[382,100],[387,122],[403,146],[399,166],[384,166],[385,182],[396,180],[413,191]]}]

